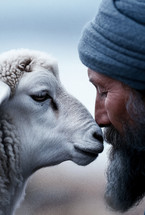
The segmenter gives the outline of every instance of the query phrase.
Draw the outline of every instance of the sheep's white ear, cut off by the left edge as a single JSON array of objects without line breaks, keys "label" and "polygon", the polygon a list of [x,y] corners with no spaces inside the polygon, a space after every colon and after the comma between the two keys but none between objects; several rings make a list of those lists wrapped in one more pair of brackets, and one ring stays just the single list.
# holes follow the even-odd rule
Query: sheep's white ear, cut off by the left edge
[{"label": "sheep's white ear, cut off by the left edge", "polygon": [[9,99],[11,94],[10,87],[5,84],[3,81],[0,81],[0,105]]}]

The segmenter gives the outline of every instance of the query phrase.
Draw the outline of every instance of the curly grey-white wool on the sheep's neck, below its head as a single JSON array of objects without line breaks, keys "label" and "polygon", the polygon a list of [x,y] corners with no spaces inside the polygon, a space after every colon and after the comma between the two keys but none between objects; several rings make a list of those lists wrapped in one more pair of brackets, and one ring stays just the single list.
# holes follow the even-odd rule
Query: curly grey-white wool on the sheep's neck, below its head
[{"label": "curly grey-white wool on the sheep's neck, below its head", "polygon": [[12,121],[0,119],[0,215],[12,215],[24,187],[20,141]]}]

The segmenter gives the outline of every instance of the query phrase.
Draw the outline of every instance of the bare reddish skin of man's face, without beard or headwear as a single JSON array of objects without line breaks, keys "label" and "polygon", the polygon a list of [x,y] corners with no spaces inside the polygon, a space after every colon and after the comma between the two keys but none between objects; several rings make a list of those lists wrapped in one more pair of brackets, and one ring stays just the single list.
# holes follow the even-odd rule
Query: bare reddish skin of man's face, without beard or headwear
[{"label": "bare reddish skin of man's face, without beard or headwear", "polygon": [[96,88],[95,120],[100,127],[113,125],[120,133],[123,124],[131,121],[126,102],[131,93],[129,87],[105,75],[88,70],[90,82]]}]

